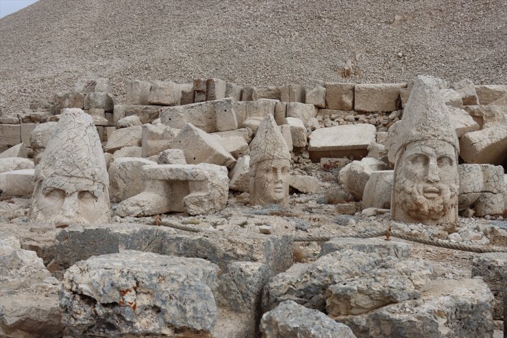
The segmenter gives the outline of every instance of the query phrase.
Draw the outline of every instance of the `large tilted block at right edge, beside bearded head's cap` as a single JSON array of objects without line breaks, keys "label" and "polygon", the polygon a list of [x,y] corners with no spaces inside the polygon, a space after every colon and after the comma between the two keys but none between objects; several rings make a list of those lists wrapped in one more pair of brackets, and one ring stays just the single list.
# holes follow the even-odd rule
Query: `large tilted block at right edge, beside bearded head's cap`
[{"label": "large tilted block at right edge, beside bearded head's cap", "polygon": [[460,139],[460,156],[468,163],[502,165],[507,154],[507,123],[469,132]]}]

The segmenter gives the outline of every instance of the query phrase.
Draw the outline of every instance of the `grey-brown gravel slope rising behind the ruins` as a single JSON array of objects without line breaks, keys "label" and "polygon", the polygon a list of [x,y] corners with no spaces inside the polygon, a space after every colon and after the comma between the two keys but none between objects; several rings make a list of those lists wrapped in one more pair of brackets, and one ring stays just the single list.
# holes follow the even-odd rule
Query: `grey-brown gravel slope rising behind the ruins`
[{"label": "grey-brown gravel slope rising behind the ruins", "polygon": [[[40,0],[0,19],[0,108],[90,75],[119,101],[133,79],[506,84],[506,18],[505,0]],[[347,60],[359,71],[343,79]]]}]

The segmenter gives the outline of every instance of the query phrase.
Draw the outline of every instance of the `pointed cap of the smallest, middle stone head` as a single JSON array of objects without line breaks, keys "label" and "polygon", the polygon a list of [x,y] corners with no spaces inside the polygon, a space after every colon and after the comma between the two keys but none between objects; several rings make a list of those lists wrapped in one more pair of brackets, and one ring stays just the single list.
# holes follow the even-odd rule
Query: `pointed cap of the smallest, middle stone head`
[{"label": "pointed cap of the smallest, middle stone head", "polygon": [[251,141],[250,167],[265,160],[288,160],[290,152],[273,115],[268,114]]}]

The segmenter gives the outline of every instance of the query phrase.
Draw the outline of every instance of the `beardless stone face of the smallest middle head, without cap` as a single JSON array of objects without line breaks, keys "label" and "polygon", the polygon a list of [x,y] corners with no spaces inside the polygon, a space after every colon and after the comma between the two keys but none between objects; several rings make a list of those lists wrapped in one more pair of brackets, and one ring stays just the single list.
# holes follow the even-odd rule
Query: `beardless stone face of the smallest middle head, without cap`
[{"label": "beardless stone face of the smallest middle head, without cap", "polygon": [[254,165],[250,183],[252,204],[287,206],[289,171],[288,160],[265,160]]}]

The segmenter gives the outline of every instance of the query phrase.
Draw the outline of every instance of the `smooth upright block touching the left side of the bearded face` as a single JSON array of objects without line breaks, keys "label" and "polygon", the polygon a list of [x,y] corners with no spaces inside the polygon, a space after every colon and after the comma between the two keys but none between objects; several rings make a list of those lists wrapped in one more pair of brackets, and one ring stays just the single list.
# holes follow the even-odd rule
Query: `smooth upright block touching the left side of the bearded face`
[{"label": "smooth upright block touching the left side of the bearded face", "polygon": [[390,209],[393,179],[393,170],[372,171],[362,192],[363,208]]}]

